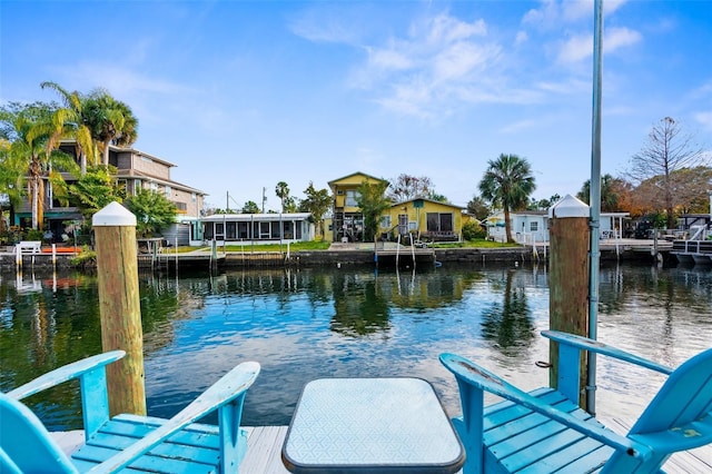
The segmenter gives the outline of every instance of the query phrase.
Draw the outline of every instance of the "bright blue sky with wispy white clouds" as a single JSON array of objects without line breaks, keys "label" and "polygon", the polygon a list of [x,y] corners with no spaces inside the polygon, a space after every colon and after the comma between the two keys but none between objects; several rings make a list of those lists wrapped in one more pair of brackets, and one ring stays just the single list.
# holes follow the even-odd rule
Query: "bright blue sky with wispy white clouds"
[{"label": "bright blue sky with wispy white clouds", "polygon": [[[670,116],[712,145],[712,1],[604,1],[602,171]],[[427,176],[465,206],[487,160],[534,197],[591,174],[593,1],[0,2],[0,102],[102,87],[135,148],[231,208],[278,181]]]}]

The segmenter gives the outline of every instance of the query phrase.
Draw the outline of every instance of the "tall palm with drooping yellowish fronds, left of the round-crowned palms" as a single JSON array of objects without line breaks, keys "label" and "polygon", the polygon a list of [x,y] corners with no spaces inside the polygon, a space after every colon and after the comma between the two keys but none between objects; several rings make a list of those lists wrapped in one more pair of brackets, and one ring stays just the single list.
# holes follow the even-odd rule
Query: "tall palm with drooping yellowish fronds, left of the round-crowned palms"
[{"label": "tall palm with drooping yellowish fronds, left of the round-crowned palms", "polygon": [[91,130],[85,124],[82,113],[83,103],[79,92],[69,92],[56,82],[40,83],[42,89],[50,88],[60,95],[65,107],[55,111],[52,124],[55,130],[50,137],[50,147],[57,148],[59,141],[65,138],[75,140],[77,156],[79,157],[81,176],[87,172],[87,158],[91,165],[96,165],[96,146],[91,137]]}]

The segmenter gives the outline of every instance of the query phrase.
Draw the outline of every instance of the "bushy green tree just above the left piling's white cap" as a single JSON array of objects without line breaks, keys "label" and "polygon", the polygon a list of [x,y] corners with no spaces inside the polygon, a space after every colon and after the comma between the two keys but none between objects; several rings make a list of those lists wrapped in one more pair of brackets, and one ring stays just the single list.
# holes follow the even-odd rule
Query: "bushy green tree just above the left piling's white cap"
[{"label": "bushy green tree just above the left piling's white cap", "polygon": [[69,196],[85,219],[90,220],[110,203],[122,203],[126,198],[126,190],[119,187],[113,175],[116,172],[110,172],[103,166],[91,167],[69,185]]}]

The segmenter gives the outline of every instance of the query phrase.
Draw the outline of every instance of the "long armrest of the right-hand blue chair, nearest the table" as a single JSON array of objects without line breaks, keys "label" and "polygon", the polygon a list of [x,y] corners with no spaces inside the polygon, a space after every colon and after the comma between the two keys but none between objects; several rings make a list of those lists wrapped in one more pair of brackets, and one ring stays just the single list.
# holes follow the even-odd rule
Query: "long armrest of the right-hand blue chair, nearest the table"
[{"label": "long armrest of the right-hand blue chair, nearest the table", "polygon": [[622,451],[630,456],[641,460],[649,460],[652,457],[652,451],[650,447],[625,436],[621,436],[610,429],[586,423],[570,415],[568,413],[553,408],[464,357],[455,354],[441,354],[439,358],[445,367],[455,374],[458,379],[464,381],[481,391],[490,392],[534,412],[541,413],[551,419]]}]

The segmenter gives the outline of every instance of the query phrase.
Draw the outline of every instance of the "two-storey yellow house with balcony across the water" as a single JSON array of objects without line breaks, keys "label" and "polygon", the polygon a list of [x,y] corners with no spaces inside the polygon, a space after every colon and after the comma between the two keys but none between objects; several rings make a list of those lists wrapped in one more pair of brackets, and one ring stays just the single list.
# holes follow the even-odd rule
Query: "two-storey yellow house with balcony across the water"
[{"label": "two-storey yellow house with balcony across the water", "polygon": [[388,182],[364,172],[354,172],[343,178],[329,181],[334,196],[334,213],[332,216],[333,241],[360,241],[364,237],[364,215],[356,204],[358,187],[364,182],[369,185]]}]

